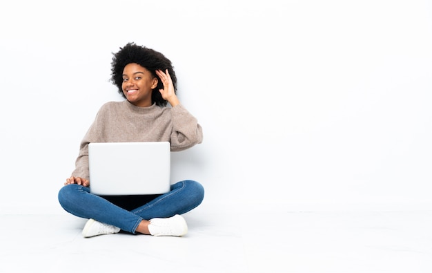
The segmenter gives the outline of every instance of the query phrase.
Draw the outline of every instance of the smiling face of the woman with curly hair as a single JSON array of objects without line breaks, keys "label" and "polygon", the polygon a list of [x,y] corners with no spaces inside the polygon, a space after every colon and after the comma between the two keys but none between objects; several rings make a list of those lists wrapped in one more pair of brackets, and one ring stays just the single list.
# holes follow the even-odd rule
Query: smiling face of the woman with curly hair
[{"label": "smiling face of the woman with curly hair", "polygon": [[152,105],[152,90],[157,86],[157,77],[154,77],[147,68],[139,64],[128,64],[123,70],[123,90],[126,100],[139,107]]}]

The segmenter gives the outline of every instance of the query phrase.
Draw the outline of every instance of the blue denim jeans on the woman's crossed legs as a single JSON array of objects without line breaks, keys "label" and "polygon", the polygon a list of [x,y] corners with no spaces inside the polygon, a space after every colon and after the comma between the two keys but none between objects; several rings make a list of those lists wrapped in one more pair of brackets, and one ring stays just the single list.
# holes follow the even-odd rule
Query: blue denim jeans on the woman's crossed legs
[{"label": "blue denim jeans on the woman's crossed legs", "polygon": [[59,191],[59,203],[70,214],[93,218],[132,234],[135,234],[141,220],[184,214],[201,204],[203,199],[204,187],[193,180],[177,182],[171,185],[167,194],[131,211],[110,203],[101,196],[90,194],[90,189],[81,185],[66,185]]}]

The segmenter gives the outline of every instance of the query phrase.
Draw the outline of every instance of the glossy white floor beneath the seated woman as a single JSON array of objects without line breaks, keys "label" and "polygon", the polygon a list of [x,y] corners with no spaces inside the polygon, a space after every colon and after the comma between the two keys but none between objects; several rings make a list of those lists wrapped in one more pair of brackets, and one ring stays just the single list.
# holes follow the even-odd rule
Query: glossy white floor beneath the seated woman
[{"label": "glossy white floor beneath the seated woman", "polygon": [[432,211],[184,216],[181,238],[83,238],[66,212],[0,215],[0,272],[432,272]]}]

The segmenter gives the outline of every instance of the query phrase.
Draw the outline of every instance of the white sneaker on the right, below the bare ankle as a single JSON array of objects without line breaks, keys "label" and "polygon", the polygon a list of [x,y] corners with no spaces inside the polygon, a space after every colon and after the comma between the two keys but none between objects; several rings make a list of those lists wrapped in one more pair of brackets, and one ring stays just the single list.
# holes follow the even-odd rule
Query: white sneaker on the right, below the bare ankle
[{"label": "white sneaker on the right, below the bare ankle", "polygon": [[183,236],[188,233],[188,225],[182,216],[150,219],[148,231],[153,236]]}]

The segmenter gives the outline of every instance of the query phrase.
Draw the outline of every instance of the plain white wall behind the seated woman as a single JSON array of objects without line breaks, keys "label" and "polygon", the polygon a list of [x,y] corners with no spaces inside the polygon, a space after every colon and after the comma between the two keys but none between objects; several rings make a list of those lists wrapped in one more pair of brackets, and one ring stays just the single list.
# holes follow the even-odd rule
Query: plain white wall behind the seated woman
[{"label": "plain white wall behind the seated woman", "polygon": [[61,211],[129,41],[204,128],[172,177],[203,205],[432,208],[431,1],[2,1],[0,26],[1,213]]}]

